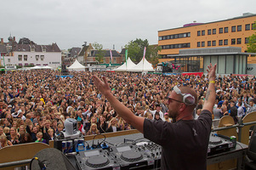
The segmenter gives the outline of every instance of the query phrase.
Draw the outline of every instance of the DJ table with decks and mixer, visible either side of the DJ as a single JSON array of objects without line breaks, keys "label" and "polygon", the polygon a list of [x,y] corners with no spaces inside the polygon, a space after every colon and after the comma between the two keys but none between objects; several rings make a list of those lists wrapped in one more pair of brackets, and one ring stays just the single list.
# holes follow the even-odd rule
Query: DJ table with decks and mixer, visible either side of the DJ
[{"label": "DJ table with decks and mixer, visible either side of the DJ", "polygon": [[[80,147],[80,149],[79,149]],[[77,152],[75,151],[77,150]],[[208,169],[244,169],[247,145],[211,133]],[[62,150],[64,151],[64,150]],[[133,133],[106,139],[90,139],[78,144],[65,157],[74,169],[160,169],[162,148]],[[221,168],[220,168],[221,167]]]}]

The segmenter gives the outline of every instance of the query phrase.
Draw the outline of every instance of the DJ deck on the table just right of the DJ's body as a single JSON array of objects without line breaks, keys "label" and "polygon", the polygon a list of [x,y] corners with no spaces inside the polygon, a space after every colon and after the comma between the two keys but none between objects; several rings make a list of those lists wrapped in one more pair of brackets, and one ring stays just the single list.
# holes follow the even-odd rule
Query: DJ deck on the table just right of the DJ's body
[{"label": "DJ deck on the table just right of the DJ's body", "polygon": [[213,156],[221,152],[230,150],[234,146],[233,142],[229,139],[220,138],[213,133],[210,135],[208,144],[208,156]]}]

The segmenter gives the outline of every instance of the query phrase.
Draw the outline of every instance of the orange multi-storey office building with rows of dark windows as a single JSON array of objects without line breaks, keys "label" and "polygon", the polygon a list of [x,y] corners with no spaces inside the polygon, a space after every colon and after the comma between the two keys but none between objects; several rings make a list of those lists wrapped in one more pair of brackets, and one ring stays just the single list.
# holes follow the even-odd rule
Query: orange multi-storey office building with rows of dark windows
[{"label": "orange multi-storey office building with rows of dark windows", "polygon": [[[219,49],[221,47],[226,49],[233,47],[241,48],[241,54],[247,55],[248,37],[255,33],[254,21],[256,21],[256,14],[246,13],[228,20],[209,23],[195,22],[179,28],[158,31],[158,45],[162,48],[159,52],[162,59],[159,60],[160,62],[176,60],[179,52],[185,49],[217,48],[221,51]],[[198,58],[199,63],[203,63],[203,57]],[[242,60],[248,64],[256,64],[256,57],[246,58]],[[247,64],[243,67],[245,65]],[[234,66],[236,66],[235,63]],[[200,67],[204,70],[202,65]]]}]

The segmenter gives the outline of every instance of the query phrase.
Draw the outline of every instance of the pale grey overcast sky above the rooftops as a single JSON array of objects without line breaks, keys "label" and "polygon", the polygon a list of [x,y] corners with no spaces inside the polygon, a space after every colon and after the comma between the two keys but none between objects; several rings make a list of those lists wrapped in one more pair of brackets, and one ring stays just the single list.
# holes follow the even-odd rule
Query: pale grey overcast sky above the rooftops
[{"label": "pale grey overcast sky above the rooftops", "polygon": [[157,43],[157,31],[196,20],[212,22],[256,14],[256,0],[1,0],[0,32],[18,42],[56,42],[60,49],[98,42],[121,51],[131,40]]}]

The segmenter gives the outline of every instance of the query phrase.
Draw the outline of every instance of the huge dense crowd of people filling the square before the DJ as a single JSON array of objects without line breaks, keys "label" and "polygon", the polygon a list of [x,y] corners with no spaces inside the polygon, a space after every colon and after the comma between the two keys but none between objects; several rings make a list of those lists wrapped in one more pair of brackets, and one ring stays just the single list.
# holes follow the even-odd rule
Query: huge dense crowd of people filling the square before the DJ
[{"label": "huge dense crowd of people filling the square before the DJ", "polygon": [[[64,130],[66,118],[77,120],[83,135],[132,129],[95,88],[93,75],[107,77],[111,93],[136,116],[175,122],[168,117],[168,94],[175,85],[196,89],[199,116],[206,98],[208,77],[162,76],[106,71],[74,71],[60,78],[59,71],[9,71],[0,75],[0,149],[13,144],[48,144]],[[230,115],[238,122],[256,111],[256,78],[219,76],[215,80],[213,119]]]}]

